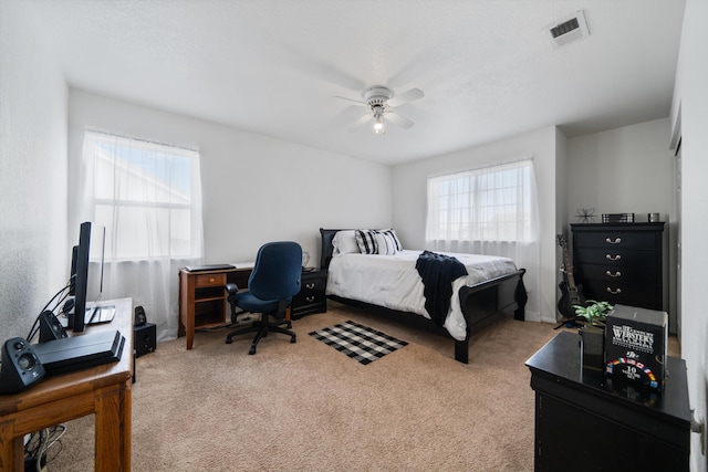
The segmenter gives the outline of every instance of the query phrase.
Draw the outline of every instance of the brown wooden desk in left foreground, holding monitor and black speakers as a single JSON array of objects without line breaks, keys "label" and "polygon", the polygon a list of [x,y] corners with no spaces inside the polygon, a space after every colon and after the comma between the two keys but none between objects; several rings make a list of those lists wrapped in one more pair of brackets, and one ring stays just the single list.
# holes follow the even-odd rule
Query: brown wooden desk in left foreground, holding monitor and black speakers
[{"label": "brown wooden desk in left foreground, holding monitor and black speakers", "polygon": [[20,394],[0,396],[0,470],[24,469],[24,434],[91,413],[96,416],[95,470],[131,470],[133,301],[101,305],[115,305],[115,318],[87,326],[85,333],[118,329],[125,336],[121,360],[44,378]]}]

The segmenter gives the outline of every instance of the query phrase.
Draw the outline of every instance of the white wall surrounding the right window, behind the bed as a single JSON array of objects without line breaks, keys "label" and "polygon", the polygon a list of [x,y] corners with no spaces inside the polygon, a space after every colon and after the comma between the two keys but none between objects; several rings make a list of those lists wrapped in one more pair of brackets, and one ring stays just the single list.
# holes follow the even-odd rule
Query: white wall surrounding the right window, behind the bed
[{"label": "white wall surrounding the right window, behind the bed", "polygon": [[[537,298],[537,313],[527,312],[527,319],[553,323],[556,319],[556,129],[549,126],[535,132],[513,136],[445,156],[433,157],[394,167],[393,208],[394,228],[409,249],[424,249],[427,178],[429,176],[472,169],[500,161],[533,157],[541,218],[541,293]],[[562,139],[561,139],[562,141]],[[532,270],[532,268],[527,268]],[[532,304],[529,304],[531,308]],[[538,312],[540,310],[540,313]]]}]

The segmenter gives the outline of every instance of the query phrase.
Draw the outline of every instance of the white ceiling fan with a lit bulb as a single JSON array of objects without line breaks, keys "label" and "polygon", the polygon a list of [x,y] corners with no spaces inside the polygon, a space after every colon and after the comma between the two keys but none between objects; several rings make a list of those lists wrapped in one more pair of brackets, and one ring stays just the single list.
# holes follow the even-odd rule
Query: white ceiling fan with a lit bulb
[{"label": "white ceiling fan with a lit bulb", "polygon": [[337,98],[354,102],[358,105],[368,108],[365,115],[358,118],[354,124],[348,127],[350,132],[354,132],[365,125],[366,123],[374,122],[374,133],[385,134],[386,128],[384,126],[384,119],[400,126],[402,128],[409,128],[414,125],[414,122],[397,113],[394,107],[403,105],[404,103],[413,102],[418,98],[423,98],[425,95],[419,88],[410,88],[408,92],[404,92],[399,95],[395,95],[394,91],[384,85],[373,85],[364,91],[362,94],[363,101],[347,98],[344,96],[336,96]]}]

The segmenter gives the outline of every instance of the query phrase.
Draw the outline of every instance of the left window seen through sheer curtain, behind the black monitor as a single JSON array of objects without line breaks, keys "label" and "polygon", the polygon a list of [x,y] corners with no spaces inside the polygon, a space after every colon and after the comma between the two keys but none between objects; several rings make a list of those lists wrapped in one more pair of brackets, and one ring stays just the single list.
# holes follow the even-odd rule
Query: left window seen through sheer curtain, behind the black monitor
[{"label": "left window seen through sheer curtain, behind the black monitor", "polygon": [[86,132],[84,159],[107,260],[201,255],[199,153]]}]

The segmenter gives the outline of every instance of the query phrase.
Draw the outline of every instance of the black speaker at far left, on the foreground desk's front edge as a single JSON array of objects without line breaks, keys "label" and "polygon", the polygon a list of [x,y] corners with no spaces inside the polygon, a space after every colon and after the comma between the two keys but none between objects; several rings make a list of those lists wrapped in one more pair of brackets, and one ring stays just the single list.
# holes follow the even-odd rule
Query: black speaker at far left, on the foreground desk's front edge
[{"label": "black speaker at far left, on the foreground desk's front edge", "polygon": [[0,394],[18,394],[40,381],[44,375],[44,366],[27,340],[13,337],[4,343]]}]

